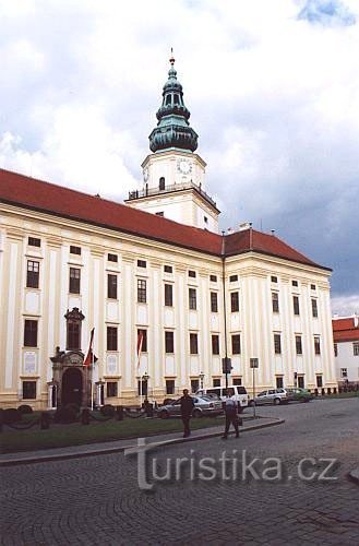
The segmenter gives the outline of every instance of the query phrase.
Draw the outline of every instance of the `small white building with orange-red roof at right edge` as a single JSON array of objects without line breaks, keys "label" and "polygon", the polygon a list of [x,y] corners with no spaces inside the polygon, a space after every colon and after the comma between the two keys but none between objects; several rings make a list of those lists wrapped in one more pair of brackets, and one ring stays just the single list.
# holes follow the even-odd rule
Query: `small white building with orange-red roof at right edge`
[{"label": "small white building with orange-red roof at right edge", "polygon": [[359,383],[359,317],[333,318],[336,378],[339,385]]}]

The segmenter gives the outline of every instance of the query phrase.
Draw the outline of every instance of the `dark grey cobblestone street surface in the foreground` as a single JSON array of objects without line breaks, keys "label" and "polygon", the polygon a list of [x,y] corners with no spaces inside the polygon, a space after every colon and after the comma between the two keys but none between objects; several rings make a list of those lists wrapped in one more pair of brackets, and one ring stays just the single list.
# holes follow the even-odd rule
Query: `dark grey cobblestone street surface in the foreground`
[{"label": "dark grey cobblestone street surface in the foreground", "polygon": [[[137,458],[123,453],[1,468],[1,544],[359,544],[359,487],[346,478],[359,466],[359,400],[263,407],[260,413],[286,423],[238,440],[211,438],[158,449],[147,479],[154,482],[153,468],[166,477],[169,467],[171,480],[156,482],[149,492],[139,489]],[[200,478],[203,456],[215,464],[212,473],[202,467],[202,477],[215,472],[215,479]],[[264,479],[278,477],[273,461],[265,474],[270,456],[280,458],[280,479]],[[179,466],[179,479],[176,458],[190,460]],[[244,475],[242,462],[251,458],[259,459],[253,468],[262,479]],[[302,466],[304,477],[323,471],[327,462],[320,459],[337,459],[328,473],[336,479],[300,479],[303,458],[312,458]],[[230,474],[235,460],[237,479]],[[229,479],[223,479],[224,467]]]}]

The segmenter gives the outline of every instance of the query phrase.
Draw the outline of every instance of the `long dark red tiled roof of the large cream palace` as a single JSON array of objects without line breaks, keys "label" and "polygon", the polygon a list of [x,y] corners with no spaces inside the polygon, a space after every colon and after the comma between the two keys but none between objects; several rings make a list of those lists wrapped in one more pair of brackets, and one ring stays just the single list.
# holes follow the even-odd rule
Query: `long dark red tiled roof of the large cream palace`
[{"label": "long dark red tiled roof of the large cream palace", "polygon": [[0,201],[213,256],[255,251],[331,271],[274,235],[248,228],[224,237],[128,205],[0,169]]}]

